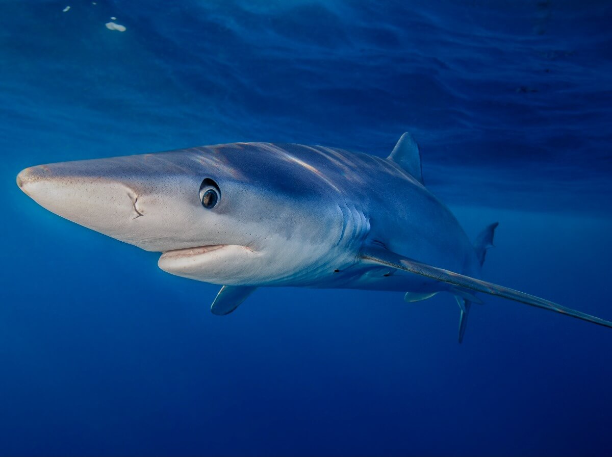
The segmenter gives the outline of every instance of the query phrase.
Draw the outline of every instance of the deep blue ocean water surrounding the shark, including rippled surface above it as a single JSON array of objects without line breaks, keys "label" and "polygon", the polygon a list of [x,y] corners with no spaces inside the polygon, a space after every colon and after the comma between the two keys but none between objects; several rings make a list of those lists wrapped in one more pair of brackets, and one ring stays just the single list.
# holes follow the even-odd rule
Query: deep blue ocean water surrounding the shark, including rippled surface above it
[{"label": "deep blue ocean water surrounding the shark, including rippled surface above it", "polygon": [[612,453],[610,329],[488,297],[458,345],[450,296],[291,288],[213,316],[217,286],[15,185],[234,141],[386,156],[410,131],[469,236],[500,222],[486,280],[610,319],[611,20],[608,1],[0,2],[0,454]]}]

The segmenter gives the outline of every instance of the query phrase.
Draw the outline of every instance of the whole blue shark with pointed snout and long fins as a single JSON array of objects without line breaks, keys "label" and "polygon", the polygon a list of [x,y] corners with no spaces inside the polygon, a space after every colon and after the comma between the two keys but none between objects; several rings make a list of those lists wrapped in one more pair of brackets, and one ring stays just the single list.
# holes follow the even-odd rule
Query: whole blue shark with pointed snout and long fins
[{"label": "whole blue shark with pointed snout and long fins", "polygon": [[160,252],[165,272],[222,285],[227,315],[256,288],[439,293],[459,308],[458,340],[479,294],[612,327],[610,321],[482,280],[498,223],[470,241],[425,187],[416,141],[389,157],[278,143],[230,143],[51,163],[21,171],[26,195],[61,217]]}]

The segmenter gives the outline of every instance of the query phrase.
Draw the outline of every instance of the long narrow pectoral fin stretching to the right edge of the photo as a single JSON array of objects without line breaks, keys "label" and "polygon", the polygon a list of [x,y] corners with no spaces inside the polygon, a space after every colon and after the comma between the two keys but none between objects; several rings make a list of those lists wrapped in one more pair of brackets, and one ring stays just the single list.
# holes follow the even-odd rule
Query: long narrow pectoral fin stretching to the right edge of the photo
[{"label": "long narrow pectoral fin stretching to the right edge of the photo", "polygon": [[535,306],[537,308],[548,309],[568,316],[575,317],[587,322],[602,325],[612,328],[612,322],[566,308],[551,301],[532,296],[518,290],[513,290],[501,285],[496,285],[483,280],[474,279],[456,272],[447,271],[435,266],[430,266],[425,263],[420,263],[405,256],[398,255],[394,252],[389,252],[385,248],[367,247],[361,252],[361,258],[366,263],[379,264],[381,266],[394,267],[403,271],[412,272],[425,277],[429,277],[439,282],[446,282],[450,285],[455,285],[462,289],[482,292],[493,296],[499,296],[509,300]]}]

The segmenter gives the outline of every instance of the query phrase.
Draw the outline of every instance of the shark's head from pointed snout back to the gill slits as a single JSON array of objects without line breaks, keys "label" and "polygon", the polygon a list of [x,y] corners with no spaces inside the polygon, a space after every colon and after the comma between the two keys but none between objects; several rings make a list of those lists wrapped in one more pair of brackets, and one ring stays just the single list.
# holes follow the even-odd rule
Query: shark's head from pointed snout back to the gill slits
[{"label": "shark's head from pointed snout back to the gill slits", "polygon": [[[267,153],[266,153],[267,152]],[[144,250],[159,267],[225,285],[333,272],[343,217],[312,168],[253,144],[53,163],[17,184],[55,214]],[[310,274],[309,274],[310,273]]]}]

